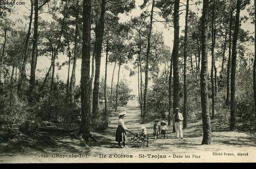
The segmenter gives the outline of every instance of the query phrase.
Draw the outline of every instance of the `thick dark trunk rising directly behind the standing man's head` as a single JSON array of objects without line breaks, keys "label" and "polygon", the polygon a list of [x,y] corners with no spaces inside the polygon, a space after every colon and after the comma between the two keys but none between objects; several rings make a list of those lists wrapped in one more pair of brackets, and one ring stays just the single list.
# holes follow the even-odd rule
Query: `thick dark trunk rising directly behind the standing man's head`
[{"label": "thick dark trunk rising directly behind the standing man's head", "polygon": [[173,11],[173,113],[179,108],[179,0],[174,1]]}]

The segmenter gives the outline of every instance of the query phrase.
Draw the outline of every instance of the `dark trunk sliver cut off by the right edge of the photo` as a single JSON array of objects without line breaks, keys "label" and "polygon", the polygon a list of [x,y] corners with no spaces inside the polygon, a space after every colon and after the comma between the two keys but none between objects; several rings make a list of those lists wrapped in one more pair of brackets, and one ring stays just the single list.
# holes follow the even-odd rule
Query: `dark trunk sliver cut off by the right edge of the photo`
[{"label": "dark trunk sliver cut off by the right edge of the photo", "polygon": [[[256,18],[256,0],[254,0],[254,17]],[[254,111],[256,113],[256,21],[254,22],[254,62],[253,62],[253,96]]]}]

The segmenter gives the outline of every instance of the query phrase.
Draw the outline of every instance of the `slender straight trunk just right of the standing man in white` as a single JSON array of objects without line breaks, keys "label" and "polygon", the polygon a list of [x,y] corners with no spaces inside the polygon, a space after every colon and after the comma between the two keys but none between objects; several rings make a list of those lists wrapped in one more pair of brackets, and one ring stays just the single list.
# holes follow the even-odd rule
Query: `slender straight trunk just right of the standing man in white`
[{"label": "slender straight trunk just right of the standing man in white", "polygon": [[[185,17],[185,37],[184,37],[184,108],[183,108],[183,128],[187,128],[187,47],[188,47],[188,17],[189,17],[189,0],[186,3]],[[191,56],[192,57],[192,56]]]}]

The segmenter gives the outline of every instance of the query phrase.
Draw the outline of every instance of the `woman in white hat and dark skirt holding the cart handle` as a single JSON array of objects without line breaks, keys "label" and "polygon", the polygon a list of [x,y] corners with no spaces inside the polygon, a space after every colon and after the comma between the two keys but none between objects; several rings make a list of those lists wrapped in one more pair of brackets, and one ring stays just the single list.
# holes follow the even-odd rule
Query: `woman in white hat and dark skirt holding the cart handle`
[{"label": "woman in white hat and dark skirt holding the cart handle", "polygon": [[124,118],[125,118],[125,112],[122,112],[122,113],[119,113],[119,119],[118,119],[118,127],[116,129],[116,132],[115,132],[115,141],[118,142],[118,147],[119,148],[122,148],[121,146],[121,142],[123,143],[123,147],[126,147],[125,146],[125,140],[127,139],[126,138],[126,130],[127,128],[125,127],[125,122],[124,122]]}]

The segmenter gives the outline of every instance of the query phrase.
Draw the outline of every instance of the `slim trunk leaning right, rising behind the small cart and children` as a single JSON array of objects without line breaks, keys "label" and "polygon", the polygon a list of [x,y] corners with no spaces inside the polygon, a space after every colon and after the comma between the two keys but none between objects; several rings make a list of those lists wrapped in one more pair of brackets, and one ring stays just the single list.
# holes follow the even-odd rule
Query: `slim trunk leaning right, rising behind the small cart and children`
[{"label": "slim trunk leaning right, rising behind the small cart and children", "polygon": [[151,45],[151,31],[153,23],[153,12],[154,12],[155,0],[152,1],[151,13],[150,13],[150,24],[149,32],[147,35],[147,53],[146,53],[146,67],[145,67],[145,87],[144,87],[144,101],[143,101],[143,118],[142,122],[145,122],[146,111],[147,111],[147,83],[148,83],[148,66],[149,66],[149,55],[150,55],[150,45]]}]

